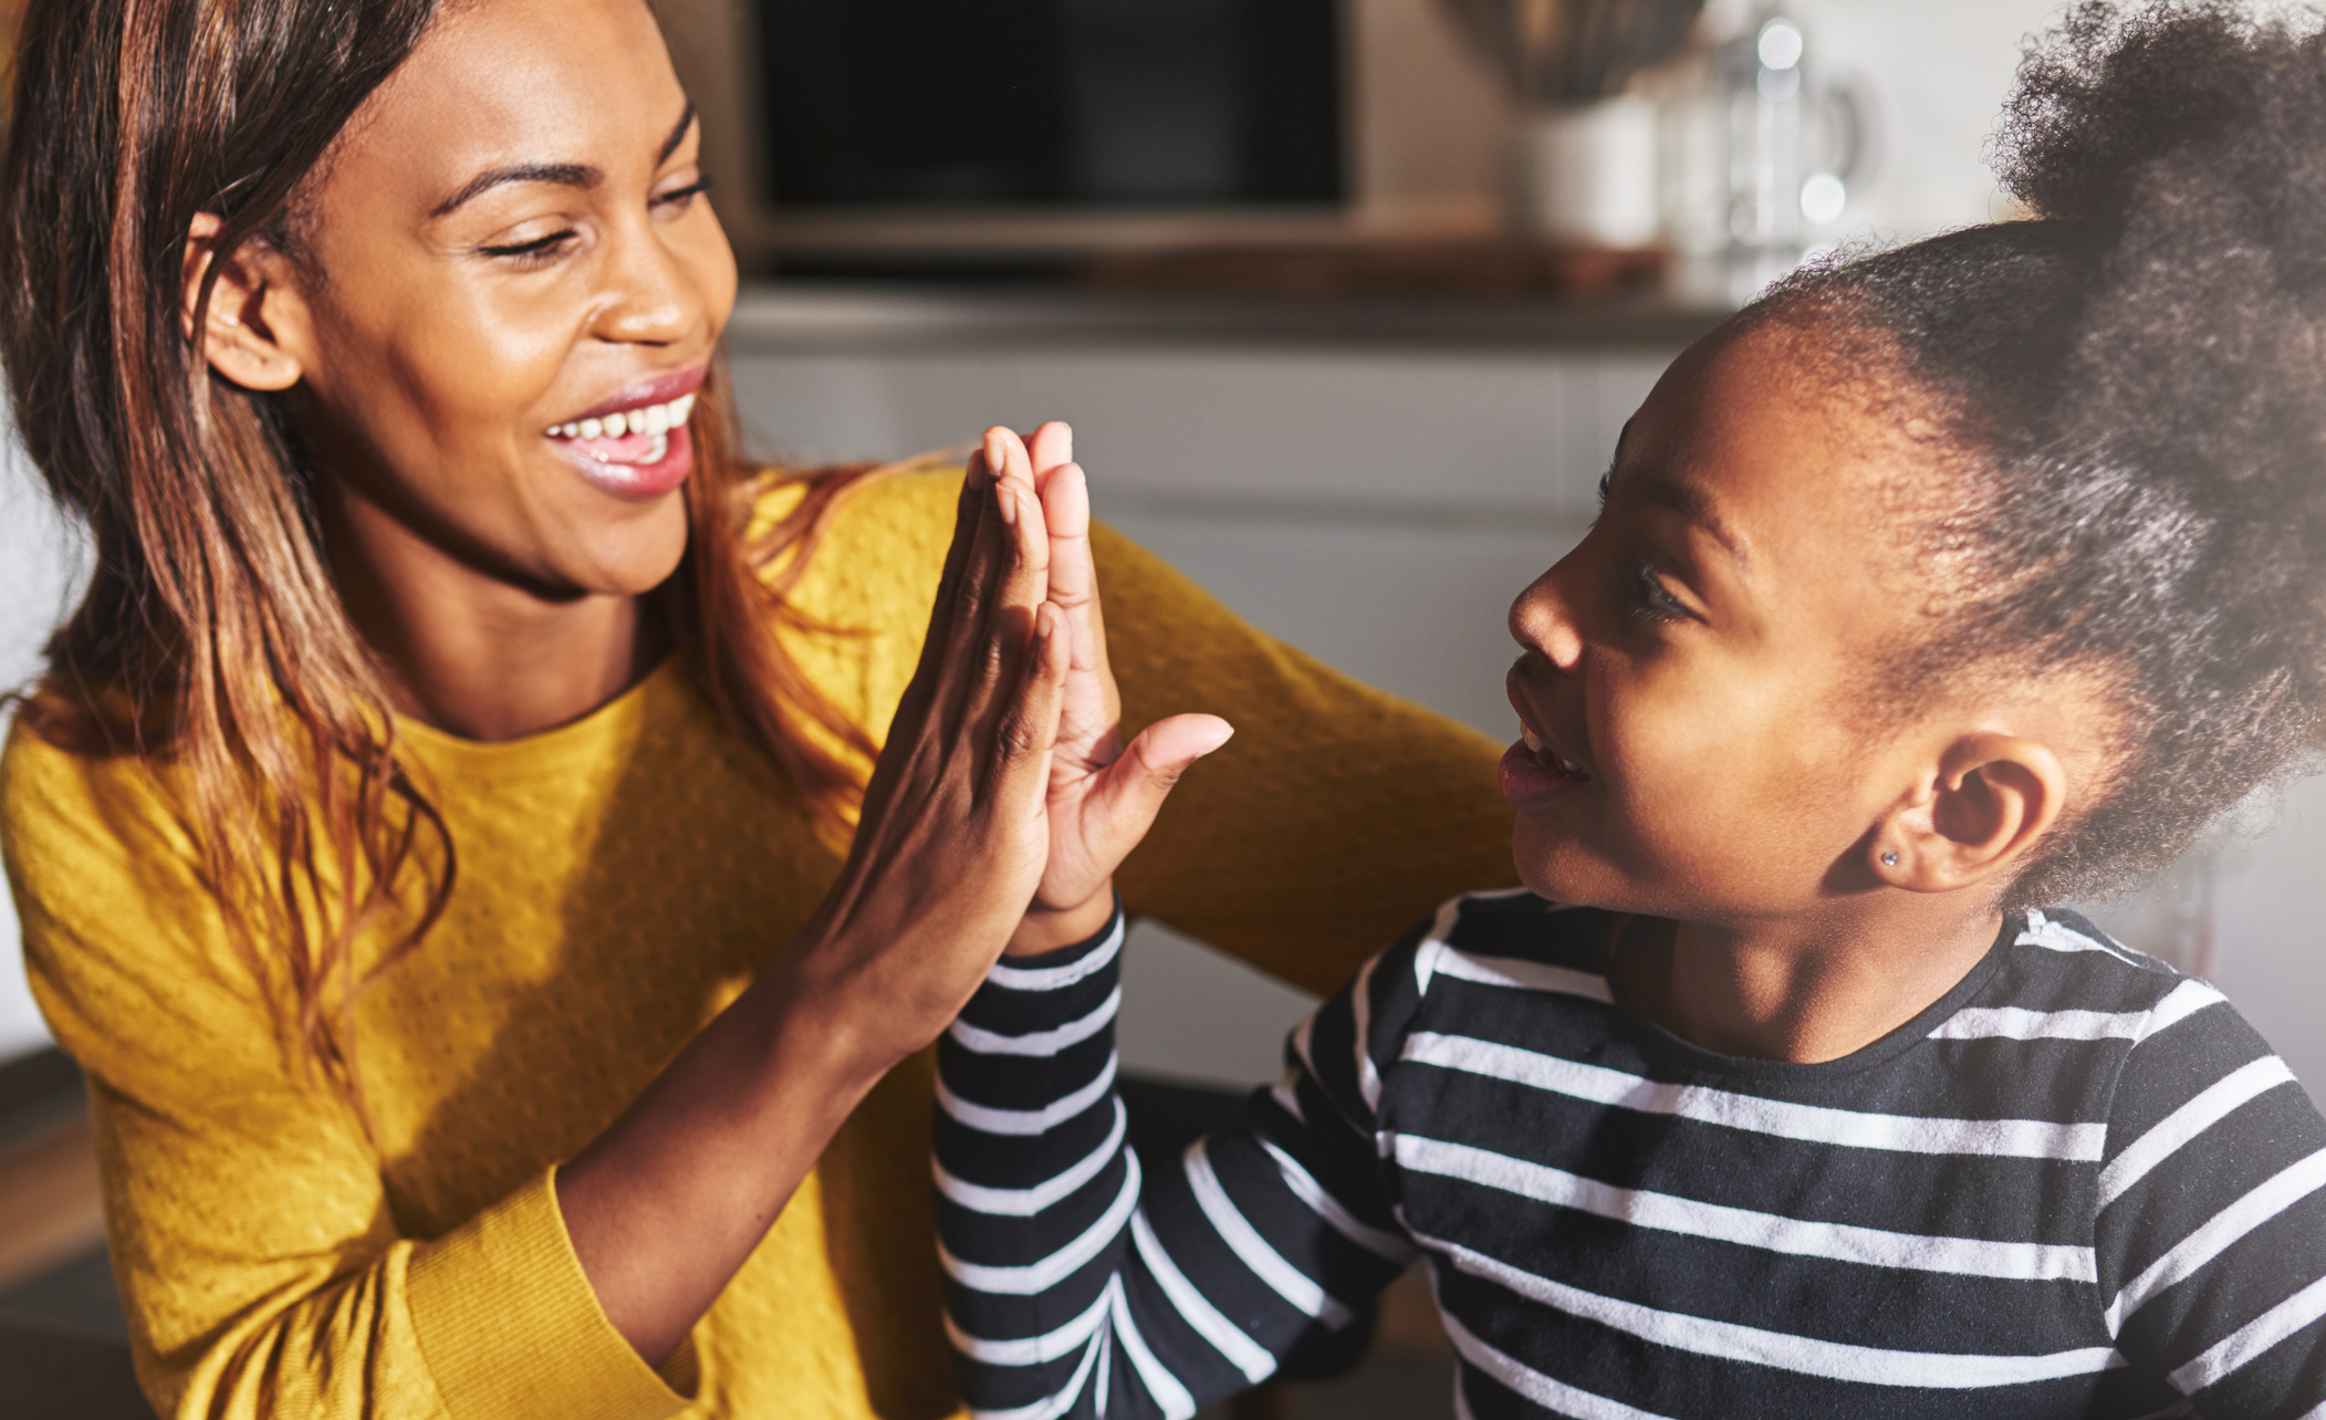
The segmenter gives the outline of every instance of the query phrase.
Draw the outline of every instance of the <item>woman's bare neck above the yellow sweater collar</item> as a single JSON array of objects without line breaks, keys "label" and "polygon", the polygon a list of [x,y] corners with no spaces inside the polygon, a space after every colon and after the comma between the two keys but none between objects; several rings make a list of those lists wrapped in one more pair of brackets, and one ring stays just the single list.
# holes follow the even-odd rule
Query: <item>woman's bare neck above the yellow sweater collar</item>
[{"label": "woman's bare neck above the yellow sweater collar", "polygon": [[579,720],[670,651],[647,597],[528,588],[358,497],[326,500],[323,537],[393,709],[463,739],[519,739]]}]

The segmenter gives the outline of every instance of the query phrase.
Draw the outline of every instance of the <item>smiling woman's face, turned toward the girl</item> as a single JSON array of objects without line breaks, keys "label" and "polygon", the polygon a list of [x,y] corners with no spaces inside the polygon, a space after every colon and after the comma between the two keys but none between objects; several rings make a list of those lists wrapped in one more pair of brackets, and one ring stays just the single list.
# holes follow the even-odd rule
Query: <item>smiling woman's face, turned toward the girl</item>
[{"label": "smiling woman's face, turned toward the girl", "polygon": [[374,574],[551,600],[670,576],[684,416],[735,304],[698,149],[642,0],[447,5],[356,116],[281,337]]}]

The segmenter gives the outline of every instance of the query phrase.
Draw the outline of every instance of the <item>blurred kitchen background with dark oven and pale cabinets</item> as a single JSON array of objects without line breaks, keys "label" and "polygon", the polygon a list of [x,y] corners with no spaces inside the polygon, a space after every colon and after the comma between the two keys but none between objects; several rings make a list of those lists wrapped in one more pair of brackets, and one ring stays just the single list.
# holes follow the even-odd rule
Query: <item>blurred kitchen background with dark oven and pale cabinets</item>
[{"label": "blurred kitchen background with dark oven and pale cabinets", "polygon": [[[1982,146],[2059,9],[654,5],[747,272],[730,356],[761,453],[1072,421],[1103,518],[1493,737],[1503,611],[1589,525],[1663,365],[1805,253],[2010,216]],[[84,553],[5,453],[0,686],[21,686]],[[2305,783],[2096,916],[2217,981],[2317,1090],[2321,862],[2326,788]],[[1165,1085],[1272,1076],[1310,1006],[1154,925],[1128,978],[1126,1069]],[[86,1134],[56,1109],[70,1069],[44,1048],[0,902],[0,1313],[119,1332]],[[1400,1394],[1384,1376],[1377,1401]],[[1442,1411],[1430,1376],[1382,1413]],[[1358,1413],[1319,1397],[1300,1413]]]}]

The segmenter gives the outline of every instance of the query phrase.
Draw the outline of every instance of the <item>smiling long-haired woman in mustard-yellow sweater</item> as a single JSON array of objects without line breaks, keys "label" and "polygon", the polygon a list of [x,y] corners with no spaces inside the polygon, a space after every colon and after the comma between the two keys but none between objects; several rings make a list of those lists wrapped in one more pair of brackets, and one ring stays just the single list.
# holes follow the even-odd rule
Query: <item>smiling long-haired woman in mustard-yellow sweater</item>
[{"label": "smiling long-haired woman in mustard-yellow sweater", "polygon": [[642,0],[26,21],[98,569],[0,834],[165,1413],[951,1413],[919,1046],[1219,739],[1119,720],[1235,697],[1119,881],[1293,981],[1507,874],[1493,746],[1084,535],[1063,428],[733,469],[695,142]]}]

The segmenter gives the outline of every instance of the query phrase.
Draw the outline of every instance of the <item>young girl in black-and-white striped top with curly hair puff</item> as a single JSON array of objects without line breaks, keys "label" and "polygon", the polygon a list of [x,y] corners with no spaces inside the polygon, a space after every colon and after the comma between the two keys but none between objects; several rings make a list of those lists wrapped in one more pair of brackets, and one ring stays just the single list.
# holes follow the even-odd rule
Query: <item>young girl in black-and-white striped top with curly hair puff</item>
[{"label": "young girl in black-and-white striped top with curly hair puff", "polygon": [[2045,909],[2317,723],[2321,153],[2319,35],[2084,5],[2010,109],[2033,221],[1682,356],[1510,616],[1528,892],[1179,1167],[1123,1150],[1119,918],[1021,930],[940,1048],[970,1404],[1189,1415],[1349,1357],[1419,1253],[1468,1415],[2326,1413],[2326,1123]]}]

